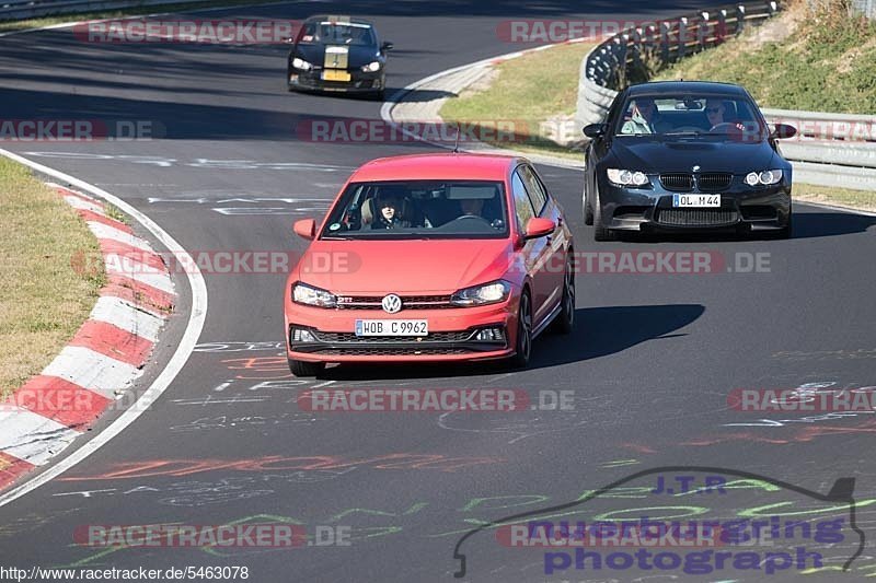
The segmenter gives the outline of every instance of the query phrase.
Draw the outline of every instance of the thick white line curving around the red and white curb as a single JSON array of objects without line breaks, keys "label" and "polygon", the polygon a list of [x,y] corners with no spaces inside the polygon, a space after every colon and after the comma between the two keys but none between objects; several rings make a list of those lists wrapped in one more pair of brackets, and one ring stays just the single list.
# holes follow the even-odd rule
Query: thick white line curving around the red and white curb
[{"label": "thick white line curving around the red and white curb", "polygon": [[180,371],[183,370],[183,366],[185,366],[185,363],[192,355],[192,351],[197,345],[200,333],[204,329],[204,322],[207,318],[207,283],[204,281],[204,276],[200,273],[200,270],[197,268],[194,259],[188,255],[188,253],[186,253],[183,246],[176,242],[176,240],[170,236],[149,217],[128,205],[120,198],[113,196],[106,190],[102,190],[101,188],[97,188],[96,186],[93,186],[84,180],[74,178],[69,174],[58,172],[48,166],[44,166],[43,164],[37,164],[36,162],[32,162],[26,158],[13,154],[7,150],[0,149],[0,155],[4,155],[11,160],[14,160],[15,162],[20,162],[31,167],[36,172],[47,174],[56,179],[76,186],[77,188],[102,198],[107,202],[112,202],[118,207],[122,212],[132,217],[146,229],[148,229],[149,232],[152,233],[152,235],[155,236],[155,238],[158,238],[169,252],[173,253],[177,257],[184,257],[188,259],[193,265],[192,269],[186,269],[188,284],[192,287],[192,312],[188,316],[188,323],[186,324],[183,338],[180,340],[180,345],[176,347],[176,351],[173,353],[173,357],[171,357],[171,360],[168,362],[166,366],[164,366],[164,370],[161,371],[161,374],[158,375],[152,385],[140,396],[139,399],[137,399],[137,403],[122,413],[115,421],[113,421],[110,427],[104,429],[101,433],[83,444],[76,452],[61,459],[43,474],[0,495],[0,506],[4,506],[13,500],[26,494],[27,492],[35,490],[47,481],[50,481],[57,476],[60,476],[83,459],[88,458],[91,454],[108,443],[110,440],[122,433],[122,431],[136,421],[137,418],[143,413],[143,411],[149,410],[151,405],[158,400],[158,398],[162,393],[164,393],[164,390],[166,390],[173,380],[176,378],[176,375],[180,374]]}]

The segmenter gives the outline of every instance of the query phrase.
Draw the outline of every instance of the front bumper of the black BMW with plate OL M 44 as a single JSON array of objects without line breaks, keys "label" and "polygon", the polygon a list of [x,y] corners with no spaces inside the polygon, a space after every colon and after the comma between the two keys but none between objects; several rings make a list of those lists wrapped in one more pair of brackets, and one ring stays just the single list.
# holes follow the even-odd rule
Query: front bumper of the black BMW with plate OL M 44
[{"label": "front bumper of the black BMW with plate OL M 44", "polygon": [[[649,188],[614,186],[599,180],[599,201],[608,229],[618,231],[699,231],[745,229],[774,231],[788,224],[791,182],[751,187],[735,176],[722,191],[672,191],[649,176]],[[673,208],[675,194],[721,195],[721,208]]]}]

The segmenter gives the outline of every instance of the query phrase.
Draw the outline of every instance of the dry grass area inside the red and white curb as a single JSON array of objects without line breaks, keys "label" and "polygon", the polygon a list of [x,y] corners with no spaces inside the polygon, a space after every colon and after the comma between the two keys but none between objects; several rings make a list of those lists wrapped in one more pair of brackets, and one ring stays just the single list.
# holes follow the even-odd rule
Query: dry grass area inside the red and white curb
[{"label": "dry grass area inside the red and white curb", "polygon": [[79,253],[100,254],[85,223],[26,167],[0,158],[0,398],[39,374],[94,306],[105,276],[77,272]]}]

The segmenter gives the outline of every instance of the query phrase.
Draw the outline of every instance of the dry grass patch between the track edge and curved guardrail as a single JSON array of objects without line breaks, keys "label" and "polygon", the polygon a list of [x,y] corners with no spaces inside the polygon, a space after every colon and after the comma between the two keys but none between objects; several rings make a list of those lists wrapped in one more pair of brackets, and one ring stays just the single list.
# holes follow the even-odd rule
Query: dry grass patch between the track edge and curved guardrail
[{"label": "dry grass patch between the track edge and curved guardrail", "polygon": [[590,48],[592,45],[587,43],[558,45],[502,62],[495,67],[486,86],[475,84],[459,97],[448,100],[440,116],[446,123],[485,126],[510,121],[515,132],[512,140],[484,141],[522,152],[580,159],[580,152],[552,139],[545,129],[562,128],[574,116],[578,72]]}]

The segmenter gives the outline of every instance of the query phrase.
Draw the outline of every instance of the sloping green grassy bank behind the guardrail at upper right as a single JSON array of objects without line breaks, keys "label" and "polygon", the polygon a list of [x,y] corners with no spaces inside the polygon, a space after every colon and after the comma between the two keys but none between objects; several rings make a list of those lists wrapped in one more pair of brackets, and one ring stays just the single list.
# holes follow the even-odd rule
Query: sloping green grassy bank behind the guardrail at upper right
[{"label": "sloping green grassy bank behind the guardrail at upper right", "polygon": [[751,49],[750,31],[664,69],[655,80],[738,83],[761,107],[876,114],[876,21],[845,18],[840,2],[819,13],[800,10],[797,30],[782,42]]}]

